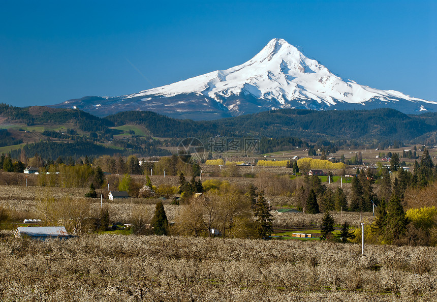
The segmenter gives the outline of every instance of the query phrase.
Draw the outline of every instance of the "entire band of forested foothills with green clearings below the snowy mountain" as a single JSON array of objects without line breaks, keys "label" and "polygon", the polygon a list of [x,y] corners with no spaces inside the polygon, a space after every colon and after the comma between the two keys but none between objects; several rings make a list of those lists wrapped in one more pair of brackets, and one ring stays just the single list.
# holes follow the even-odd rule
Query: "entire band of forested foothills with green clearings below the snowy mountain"
[{"label": "entire band of forested foothills with green clearings below the snowy mountain", "polygon": [[[7,128],[0,133],[0,146],[16,145],[15,149],[19,149],[24,135],[20,125],[40,127],[41,130],[32,130],[40,131],[37,140],[24,140],[34,142],[25,150],[30,154],[47,154],[52,159],[63,154],[168,155],[170,153],[161,147],[177,146],[186,137],[196,137],[205,146],[217,136],[259,138],[261,153],[287,150],[293,146],[324,146],[335,152],[336,148],[360,145],[386,147],[391,144],[437,143],[437,114],[406,115],[394,109],[280,109],[195,122],[150,111],[126,111],[99,118],[78,109],[19,108],[0,104],[0,122]],[[65,130],[59,130],[61,128]],[[48,140],[74,144],[66,147],[43,143]]]}]

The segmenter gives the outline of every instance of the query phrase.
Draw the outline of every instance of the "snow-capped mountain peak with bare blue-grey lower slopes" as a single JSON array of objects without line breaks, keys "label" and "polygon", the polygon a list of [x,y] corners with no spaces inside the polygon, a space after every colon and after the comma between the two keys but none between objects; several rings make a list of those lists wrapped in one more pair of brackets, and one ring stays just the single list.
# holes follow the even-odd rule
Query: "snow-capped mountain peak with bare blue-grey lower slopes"
[{"label": "snow-capped mountain peak with bare blue-grey lower slopes", "polygon": [[172,117],[214,119],[268,109],[394,108],[437,111],[437,102],[345,80],[283,39],[271,40],[239,66],[121,97],[87,97],[55,107],[76,107],[104,116],[150,110]]}]

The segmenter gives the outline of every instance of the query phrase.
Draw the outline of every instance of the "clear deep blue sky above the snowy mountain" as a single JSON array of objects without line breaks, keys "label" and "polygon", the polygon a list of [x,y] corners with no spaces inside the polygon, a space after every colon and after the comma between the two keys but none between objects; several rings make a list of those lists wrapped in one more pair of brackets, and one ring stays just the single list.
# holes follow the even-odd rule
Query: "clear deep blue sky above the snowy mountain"
[{"label": "clear deep blue sky above the snowy mountain", "polygon": [[437,101],[435,1],[0,0],[0,102],[119,96],[242,64],[272,38]]}]

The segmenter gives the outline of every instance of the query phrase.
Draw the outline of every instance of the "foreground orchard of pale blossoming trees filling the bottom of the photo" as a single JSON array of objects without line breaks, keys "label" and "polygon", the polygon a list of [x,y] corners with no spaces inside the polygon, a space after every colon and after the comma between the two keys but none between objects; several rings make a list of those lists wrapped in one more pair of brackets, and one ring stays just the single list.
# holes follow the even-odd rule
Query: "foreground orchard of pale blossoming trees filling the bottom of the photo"
[{"label": "foreground orchard of pale blossoming trees filling the bottom of the photo", "polygon": [[437,294],[437,249],[322,241],[0,237],[0,300],[414,301]]}]

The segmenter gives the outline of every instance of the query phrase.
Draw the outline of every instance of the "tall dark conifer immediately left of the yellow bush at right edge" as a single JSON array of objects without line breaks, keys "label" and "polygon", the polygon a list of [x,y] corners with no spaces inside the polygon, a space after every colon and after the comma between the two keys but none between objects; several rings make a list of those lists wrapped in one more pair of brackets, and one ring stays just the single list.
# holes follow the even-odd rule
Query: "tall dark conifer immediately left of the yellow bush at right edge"
[{"label": "tall dark conifer immediately left of the yellow bush at right edge", "polygon": [[408,218],[397,196],[393,196],[387,205],[387,224],[385,237],[390,243],[399,245],[399,239],[407,231]]}]

